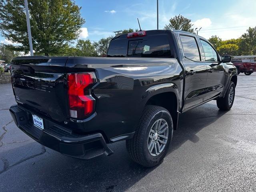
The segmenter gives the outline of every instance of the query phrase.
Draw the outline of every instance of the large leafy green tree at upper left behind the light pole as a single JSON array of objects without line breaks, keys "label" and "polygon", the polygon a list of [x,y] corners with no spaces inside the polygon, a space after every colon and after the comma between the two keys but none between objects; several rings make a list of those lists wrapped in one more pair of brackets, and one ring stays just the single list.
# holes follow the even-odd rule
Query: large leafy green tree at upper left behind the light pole
[{"label": "large leafy green tree at upper left behind the light pole", "polygon": [[[78,38],[84,24],[74,0],[28,0],[33,49],[45,56],[58,54]],[[13,50],[29,52],[24,1],[0,2],[0,32],[6,39],[20,43]]]}]

